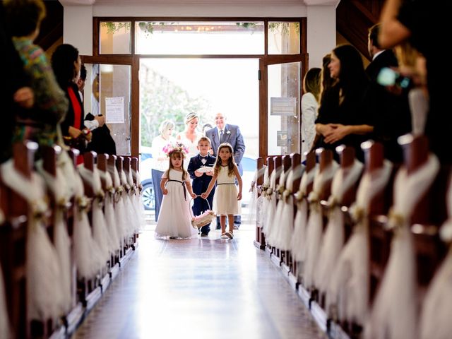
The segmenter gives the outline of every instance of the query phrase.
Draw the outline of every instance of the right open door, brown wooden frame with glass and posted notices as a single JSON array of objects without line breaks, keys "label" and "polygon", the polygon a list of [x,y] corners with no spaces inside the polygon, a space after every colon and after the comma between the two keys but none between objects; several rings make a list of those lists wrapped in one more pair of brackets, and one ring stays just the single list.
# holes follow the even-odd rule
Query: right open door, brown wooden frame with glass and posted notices
[{"label": "right open door, brown wooden frame with glass and posted notices", "polygon": [[301,96],[307,56],[268,57],[260,61],[259,155],[301,150]]}]

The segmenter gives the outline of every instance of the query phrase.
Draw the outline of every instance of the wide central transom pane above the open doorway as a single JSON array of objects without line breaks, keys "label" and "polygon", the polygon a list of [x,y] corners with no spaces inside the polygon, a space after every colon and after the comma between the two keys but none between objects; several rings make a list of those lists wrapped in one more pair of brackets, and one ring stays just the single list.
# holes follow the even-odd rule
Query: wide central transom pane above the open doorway
[{"label": "wide central transom pane above the open doorway", "polygon": [[263,22],[136,22],[138,54],[263,54]]}]

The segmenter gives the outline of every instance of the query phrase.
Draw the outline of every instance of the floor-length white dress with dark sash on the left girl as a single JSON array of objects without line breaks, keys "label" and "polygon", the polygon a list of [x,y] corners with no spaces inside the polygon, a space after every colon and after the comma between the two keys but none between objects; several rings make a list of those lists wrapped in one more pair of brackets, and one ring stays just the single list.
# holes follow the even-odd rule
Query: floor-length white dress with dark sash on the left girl
[{"label": "floor-length white dress with dark sash on the left girl", "polygon": [[[166,173],[162,177],[166,178]],[[185,183],[182,184],[182,172],[169,169],[169,177],[166,183],[168,194],[163,196],[162,206],[158,215],[156,237],[189,238],[198,234],[191,226],[189,191]],[[190,176],[186,174],[185,182],[190,182]],[[184,196],[184,191],[185,196]]]}]

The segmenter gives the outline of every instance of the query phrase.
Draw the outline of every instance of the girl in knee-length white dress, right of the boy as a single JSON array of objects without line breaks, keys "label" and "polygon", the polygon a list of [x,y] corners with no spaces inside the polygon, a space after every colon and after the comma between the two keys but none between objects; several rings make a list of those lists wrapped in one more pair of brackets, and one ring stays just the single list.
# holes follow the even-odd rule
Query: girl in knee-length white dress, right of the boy
[{"label": "girl in knee-length white dress, right of the boy", "polygon": [[[239,183],[239,189],[235,180]],[[234,162],[234,151],[230,143],[222,143],[218,146],[217,160],[213,169],[213,177],[206,192],[201,194],[207,198],[217,183],[215,196],[213,196],[213,210],[220,215],[221,238],[232,239],[234,237],[234,215],[239,214],[239,203],[242,199],[242,177]],[[229,221],[229,232],[226,232],[226,216]]]}]

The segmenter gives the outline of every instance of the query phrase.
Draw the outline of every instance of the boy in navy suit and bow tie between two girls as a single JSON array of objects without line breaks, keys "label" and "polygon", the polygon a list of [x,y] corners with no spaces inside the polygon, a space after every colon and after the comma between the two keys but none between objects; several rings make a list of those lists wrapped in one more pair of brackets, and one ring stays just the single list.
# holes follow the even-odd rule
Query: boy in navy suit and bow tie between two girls
[{"label": "boy in navy suit and bow tie between two girls", "polygon": [[[210,149],[210,139],[206,136],[201,136],[198,141],[199,154],[191,157],[189,162],[189,167],[187,172],[189,172],[193,182],[191,186],[193,188],[194,194],[200,195],[205,192],[210,184],[210,179],[212,179],[213,171],[200,172],[198,169],[201,167],[214,167],[216,158],[209,154]],[[210,209],[212,209],[213,204],[213,194],[215,193],[215,187],[210,192],[206,200],[210,203]],[[208,203],[205,199],[196,198],[193,203],[193,214],[200,215],[204,211],[209,209]],[[201,227],[201,237],[207,237],[210,232],[210,224]]]}]

